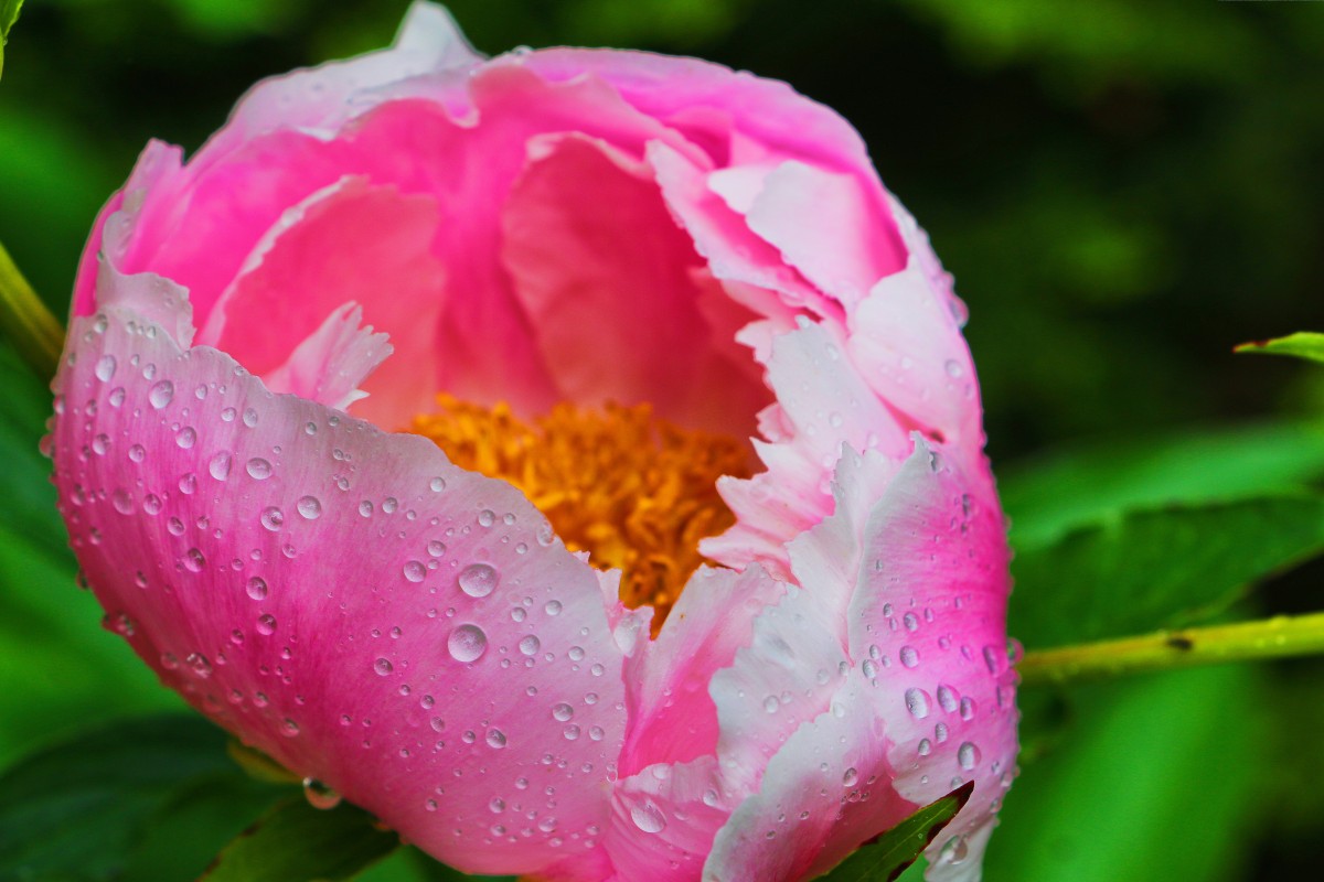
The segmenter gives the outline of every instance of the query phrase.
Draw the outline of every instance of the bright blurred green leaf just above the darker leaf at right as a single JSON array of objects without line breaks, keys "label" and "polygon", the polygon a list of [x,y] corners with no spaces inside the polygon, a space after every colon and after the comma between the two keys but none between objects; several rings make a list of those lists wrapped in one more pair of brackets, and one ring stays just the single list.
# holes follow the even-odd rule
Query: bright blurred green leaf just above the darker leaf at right
[{"label": "bright blurred green leaf just above the darker leaf at right", "polygon": [[1136,508],[1300,489],[1324,475],[1324,426],[1262,424],[1091,442],[998,465],[1017,554]]}]

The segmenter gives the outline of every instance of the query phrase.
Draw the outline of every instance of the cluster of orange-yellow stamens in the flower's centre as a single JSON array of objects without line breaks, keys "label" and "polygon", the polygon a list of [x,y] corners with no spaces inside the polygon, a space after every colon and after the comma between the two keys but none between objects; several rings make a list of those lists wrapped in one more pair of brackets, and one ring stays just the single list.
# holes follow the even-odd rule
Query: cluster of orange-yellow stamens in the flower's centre
[{"label": "cluster of orange-yellow stamens in the flower's centre", "polygon": [[441,413],[416,417],[410,431],[455,465],[510,481],[567,547],[620,569],[621,600],[651,603],[654,631],[707,562],[699,540],[735,524],[716,492],[718,477],[751,473],[749,451],[733,438],[681,428],[647,405],[561,403],[526,422],[504,403],[437,401]]}]

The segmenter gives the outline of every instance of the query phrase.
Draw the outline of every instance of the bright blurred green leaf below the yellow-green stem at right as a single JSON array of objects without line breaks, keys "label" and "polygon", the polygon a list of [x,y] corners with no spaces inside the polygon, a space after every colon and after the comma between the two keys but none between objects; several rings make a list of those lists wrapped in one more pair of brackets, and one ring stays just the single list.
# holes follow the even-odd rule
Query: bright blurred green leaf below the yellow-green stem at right
[{"label": "bright blurred green leaf below the yellow-green stem at right", "polygon": [[1230,665],[1074,689],[1062,748],[1006,795],[984,882],[1249,878],[1254,830],[1279,813],[1262,796],[1276,759],[1264,673]]}]

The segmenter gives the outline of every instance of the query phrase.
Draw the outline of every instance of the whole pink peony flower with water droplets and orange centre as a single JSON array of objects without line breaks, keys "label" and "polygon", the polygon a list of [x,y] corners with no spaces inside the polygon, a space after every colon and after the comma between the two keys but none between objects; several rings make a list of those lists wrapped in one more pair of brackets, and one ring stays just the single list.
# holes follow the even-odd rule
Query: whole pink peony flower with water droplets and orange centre
[{"label": "whole pink peony flower with water droplets and orange centre", "polygon": [[416,5],[147,147],[54,480],[164,684],[446,863],[797,879],[973,780],[928,857],[974,879],[1017,711],[963,319],[830,110]]}]

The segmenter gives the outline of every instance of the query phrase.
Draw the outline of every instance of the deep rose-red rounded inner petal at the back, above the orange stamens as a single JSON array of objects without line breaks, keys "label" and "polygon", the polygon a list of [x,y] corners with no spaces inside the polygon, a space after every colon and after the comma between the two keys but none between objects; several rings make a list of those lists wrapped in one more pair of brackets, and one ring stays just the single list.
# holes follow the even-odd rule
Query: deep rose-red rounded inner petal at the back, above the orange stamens
[{"label": "deep rose-red rounded inner petal at the back, above the orange stamens", "polygon": [[702,262],[647,168],[579,135],[535,139],[530,153],[502,254],[561,397],[646,401],[666,419],[747,435],[767,387],[718,354],[700,308]]}]

